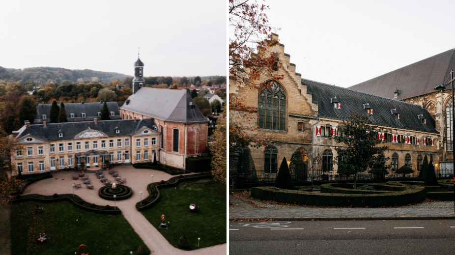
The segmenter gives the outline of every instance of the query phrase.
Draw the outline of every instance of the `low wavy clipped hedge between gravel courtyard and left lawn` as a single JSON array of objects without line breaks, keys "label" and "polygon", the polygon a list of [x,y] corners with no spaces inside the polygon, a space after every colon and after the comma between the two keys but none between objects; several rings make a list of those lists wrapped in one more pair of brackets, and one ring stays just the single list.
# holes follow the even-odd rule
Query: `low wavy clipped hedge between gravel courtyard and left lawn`
[{"label": "low wavy clipped hedge between gravel courtyard and left lawn", "polygon": [[78,195],[74,195],[74,198],[73,198],[73,194],[58,194],[58,198],[54,198],[54,196],[29,194],[29,195],[21,196],[20,199],[11,200],[12,203],[22,203],[22,202],[27,202],[27,201],[36,201],[36,202],[41,202],[41,203],[70,201],[76,207],[87,210],[89,212],[95,212],[95,213],[101,213],[101,214],[121,214],[122,213],[120,211],[120,209],[118,208],[118,206],[116,209],[111,207],[111,209],[107,210],[106,205],[94,205],[92,203],[85,201]]}]

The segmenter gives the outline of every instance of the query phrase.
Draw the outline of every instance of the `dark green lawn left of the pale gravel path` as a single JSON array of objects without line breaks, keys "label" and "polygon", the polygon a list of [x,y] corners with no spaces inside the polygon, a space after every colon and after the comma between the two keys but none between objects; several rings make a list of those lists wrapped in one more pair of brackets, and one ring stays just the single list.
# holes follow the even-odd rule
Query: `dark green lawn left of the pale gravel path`
[{"label": "dark green lawn left of the pale gravel path", "polygon": [[[136,254],[144,244],[123,215],[87,212],[66,201],[39,203],[44,211],[36,214],[36,204],[12,205],[12,255],[67,255],[75,253],[81,244],[90,249],[90,254]],[[46,233],[46,244],[37,244],[39,233]]]}]

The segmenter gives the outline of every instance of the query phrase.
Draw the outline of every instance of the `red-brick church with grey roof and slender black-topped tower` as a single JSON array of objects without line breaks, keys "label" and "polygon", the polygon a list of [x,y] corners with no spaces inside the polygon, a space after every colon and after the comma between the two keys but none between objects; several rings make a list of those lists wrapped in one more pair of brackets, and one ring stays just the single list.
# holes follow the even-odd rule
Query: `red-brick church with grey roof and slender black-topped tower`
[{"label": "red-brick church with grey roof and slender black-topped tower", "polygon": [[143,66],[138,57],[133,95],[120,107],[121,118],[153,118],[161,134],[160,163],[183,169],[187,157],[205,152],[209,120],[186,90],[144,87]]}]

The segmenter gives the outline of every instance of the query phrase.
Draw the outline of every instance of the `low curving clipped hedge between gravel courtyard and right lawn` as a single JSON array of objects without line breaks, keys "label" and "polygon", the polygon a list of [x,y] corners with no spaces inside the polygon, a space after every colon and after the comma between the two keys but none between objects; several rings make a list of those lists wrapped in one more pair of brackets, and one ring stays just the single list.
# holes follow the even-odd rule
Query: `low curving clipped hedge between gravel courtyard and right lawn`
[{"label": "low curving clipped hedge between gravel courtyard and right lawn", "polygon": [[182,182],[182,181],[191,181],[191,180],[199,180],[199,179],[205,179],[205,178],[213,178],[212,173],[196,173],[196,174],[191,174],[191,175],[179,175],[172,177],[171,179],[167,181],[160,181],[160,182],[154,182],[154,183],[149,183],[147,185],[147,191],[148,191],[148,196],[144,199],[142,199],[142,205],[141,201],[136,203],[136,209],[138,211],[143,211],[146,210],[150,207],[152,207],[155,203],[157,203],[160,200],[160,189],[159,188],[165,188],[165,187],[172,187],[175,185],[175,181]]}]

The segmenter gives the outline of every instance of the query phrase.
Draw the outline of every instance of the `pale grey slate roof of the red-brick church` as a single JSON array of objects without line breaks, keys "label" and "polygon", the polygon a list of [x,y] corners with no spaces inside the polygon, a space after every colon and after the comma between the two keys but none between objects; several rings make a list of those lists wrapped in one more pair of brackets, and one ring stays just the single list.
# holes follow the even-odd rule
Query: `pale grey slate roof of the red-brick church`
[{"label": "pale grey slate roof of the red-brick church", "polygon": [[208,122],[186,90],[141,87],[120,109],[166,121]]}]

